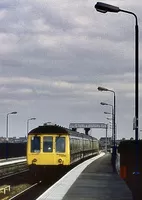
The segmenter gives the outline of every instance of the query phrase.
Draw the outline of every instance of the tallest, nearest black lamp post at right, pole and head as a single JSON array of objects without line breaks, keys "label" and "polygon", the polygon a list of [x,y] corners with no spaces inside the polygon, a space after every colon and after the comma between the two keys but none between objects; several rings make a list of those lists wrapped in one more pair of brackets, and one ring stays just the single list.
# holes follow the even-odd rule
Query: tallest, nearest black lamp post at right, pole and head
[{"label": "tallest, nearest black lamp post at right, pole and head", "polygon": [[135,141],[136,141],[136,169],[134,174],[139,174],[138,170],[138,131],[139,131],[139,27],[137,15],[131,11],[122,10],[119,7],[97,2],[95,5],[97,11],[106,12],[124,12],[135,17]]}]

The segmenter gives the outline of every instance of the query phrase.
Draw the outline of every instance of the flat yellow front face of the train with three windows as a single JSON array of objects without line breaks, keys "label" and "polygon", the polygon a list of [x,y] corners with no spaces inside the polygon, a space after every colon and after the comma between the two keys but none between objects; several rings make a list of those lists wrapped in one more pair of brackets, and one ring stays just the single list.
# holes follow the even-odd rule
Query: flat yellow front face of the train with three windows
[{"label": "flat yellow front face of the train with three windows", "polygon": [[67,135],[30,135],[27,145],[28,165],[69,165],[70,150]]}]

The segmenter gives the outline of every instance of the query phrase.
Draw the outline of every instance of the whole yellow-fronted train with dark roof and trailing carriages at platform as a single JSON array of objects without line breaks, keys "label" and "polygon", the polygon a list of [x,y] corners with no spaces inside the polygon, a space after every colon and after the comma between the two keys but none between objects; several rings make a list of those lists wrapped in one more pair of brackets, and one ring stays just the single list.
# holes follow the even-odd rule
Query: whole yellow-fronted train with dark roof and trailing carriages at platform
[{"label": "whole yellow-fronted train with dark roof and trailing carriages at platform", "polygon": [[98,153],[96,138],[61,126],[43,125],[28,134],[27,163],[33,173],[68,167]]}]

